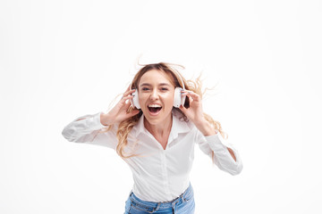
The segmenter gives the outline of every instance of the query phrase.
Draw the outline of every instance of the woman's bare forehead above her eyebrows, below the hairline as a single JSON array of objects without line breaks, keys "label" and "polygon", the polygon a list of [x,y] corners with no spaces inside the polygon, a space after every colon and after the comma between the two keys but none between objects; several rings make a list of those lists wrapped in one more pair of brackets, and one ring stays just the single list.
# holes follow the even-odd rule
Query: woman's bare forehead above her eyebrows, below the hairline
[{"label": "woman's bare forehead above her eyebrows, below the hairline", "polygon": [[141,84],[159,85],[169,84],[174,86],[174,78],[162,70],[148,70],[140,78],[139,86]]}]

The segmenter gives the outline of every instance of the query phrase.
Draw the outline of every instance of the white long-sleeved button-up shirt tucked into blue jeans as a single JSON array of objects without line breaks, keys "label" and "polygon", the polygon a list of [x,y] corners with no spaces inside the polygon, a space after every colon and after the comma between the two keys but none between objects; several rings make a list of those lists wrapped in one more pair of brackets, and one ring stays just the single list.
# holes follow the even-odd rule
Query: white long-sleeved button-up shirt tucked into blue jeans
[{"label": "white long-sleeved button-up shirt tucked into blue jeans", "polygon": [[[85,115],[73,120],[63,130],[63,136],[71,142],[99,144],[115,150],[117,145],[116,128],[100,133],[106,126],[100,123],[101,112]],[[189,174],[194,159],[194,145],[198,144],[202,152],[211,158],[215,152],[215,163],[232,175],[242,171],[242,161],[239,153],[219,133],[215,136],[203,136],[198,128],[189,121],[179,119],[173,111],[173,126],[165,150],[144,128],[144,115],[139,123],[131,130],[125,152],[135,153],[140,156],[125,159],[129,165],[134,185],[133,193],[141,200],[149,202],[167,202],[178,197],[190,185]],[[233,160],[226,146],[233,150],[236,161]]]}]

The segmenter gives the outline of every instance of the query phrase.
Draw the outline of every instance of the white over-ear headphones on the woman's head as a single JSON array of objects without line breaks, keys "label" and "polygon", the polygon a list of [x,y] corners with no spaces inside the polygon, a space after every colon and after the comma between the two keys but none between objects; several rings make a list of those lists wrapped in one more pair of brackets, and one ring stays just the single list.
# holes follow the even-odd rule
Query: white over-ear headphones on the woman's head
[{"label": "white over-ear headphones on the woman's head", "polygon": [[[183,83],[183,80],[182,80],[182,77],[180,75],[180,73],[176,70],[174,70],[179,78],[181,79],[181,82],[182,82],[182,87],[175,87],[174,88],[174,107],[175,108],[179,108],[181,105],[183,106],[184,102],[185,102],[185,99],[186,99],[186,96],[182,96],[181,92],[182,90],[185,90],[184,88],[184,83]],[[130,86],[130,89],[131,89],[131,86]],[[140,103],[139,103],[139,93],[138,93],[138,90],[136,89],[134,93],[132,93],[132,95],[134,96],[133,99],[131,99],[131,105],[132,106],[135,106],[137,109],[140,109]]]}]

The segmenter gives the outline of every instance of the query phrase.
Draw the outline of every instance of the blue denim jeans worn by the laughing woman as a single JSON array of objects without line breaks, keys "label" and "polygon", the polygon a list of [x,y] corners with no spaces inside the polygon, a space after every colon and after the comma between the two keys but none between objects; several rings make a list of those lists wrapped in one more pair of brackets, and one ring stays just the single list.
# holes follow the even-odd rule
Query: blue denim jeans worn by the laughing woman
[{"label": "blue denim jeans worn by the laughing woman", "polygon": [[131,192],[125,202],[124,214],[193,214],[194,210],[193,189],[190,185],[184,193],[171,202],[142,201]]}]

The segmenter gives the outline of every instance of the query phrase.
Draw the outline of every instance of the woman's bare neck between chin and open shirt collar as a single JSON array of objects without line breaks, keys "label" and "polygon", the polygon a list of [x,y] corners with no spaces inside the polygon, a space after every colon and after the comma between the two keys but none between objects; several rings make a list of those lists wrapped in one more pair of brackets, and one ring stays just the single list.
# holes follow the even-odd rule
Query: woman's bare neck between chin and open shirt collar
[{"label": "woman's bare neck between chin and open shirt collar", "polygon": [[147,128],[148,132],[153,136],[165,136],[169,135],[173,124],[173,116],[169,115],[163,122],[158,124],[151,124],[148,119],[144,118],[144,127]]}]

